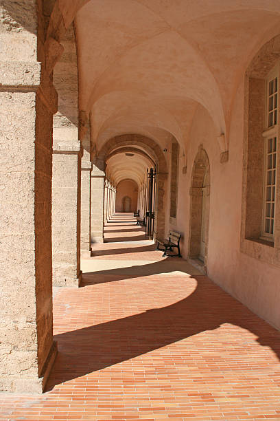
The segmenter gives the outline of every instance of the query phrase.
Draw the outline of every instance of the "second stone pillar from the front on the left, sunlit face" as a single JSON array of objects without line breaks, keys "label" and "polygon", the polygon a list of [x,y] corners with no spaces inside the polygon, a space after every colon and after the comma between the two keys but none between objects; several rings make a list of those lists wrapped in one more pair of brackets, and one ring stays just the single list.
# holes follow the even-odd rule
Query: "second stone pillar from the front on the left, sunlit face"
[{"label": "second stone pillar from the front on the left, sunlit face", "polygon": [[[75,131],[78,133],[76,128]],[[80,141],[54,140],[53,154],[53,285],[78,287],[82,281],[80,271]]]}]

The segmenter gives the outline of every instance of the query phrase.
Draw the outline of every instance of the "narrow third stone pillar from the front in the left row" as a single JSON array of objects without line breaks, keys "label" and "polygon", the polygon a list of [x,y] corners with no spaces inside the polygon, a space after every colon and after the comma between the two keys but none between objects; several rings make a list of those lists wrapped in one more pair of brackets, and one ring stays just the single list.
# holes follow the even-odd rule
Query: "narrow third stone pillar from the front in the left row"
[{"label": "narrow third stone pillar from the front in the left row", "polygon": [[91,161],[82,158],[81,177],[81,252],[91,250]]}]

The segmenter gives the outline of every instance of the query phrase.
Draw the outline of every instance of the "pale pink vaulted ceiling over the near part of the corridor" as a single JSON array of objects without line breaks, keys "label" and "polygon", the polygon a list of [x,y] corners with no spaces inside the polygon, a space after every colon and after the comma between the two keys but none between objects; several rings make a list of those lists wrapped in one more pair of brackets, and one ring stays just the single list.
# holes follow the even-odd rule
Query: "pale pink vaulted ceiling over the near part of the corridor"
[{"label": "pale pink vaulted ceiling over the near part of the corridor", "polygon": [[[97,148],[123,133],[185,148],[197,107],[228,133],[235,91],[278,0],[91,0],[75,17],[80,109]],[[276,29],[278,27],[278,29]]]}]

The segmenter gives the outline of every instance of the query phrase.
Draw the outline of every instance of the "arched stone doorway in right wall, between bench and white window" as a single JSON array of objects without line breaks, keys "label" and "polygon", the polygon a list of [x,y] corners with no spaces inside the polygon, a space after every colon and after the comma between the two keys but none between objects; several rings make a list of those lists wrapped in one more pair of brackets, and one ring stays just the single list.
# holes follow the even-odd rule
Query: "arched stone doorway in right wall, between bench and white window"
[{"label": "arched stone doorway in right wall, between bench and white window", "polygon": [[207,152],[198,149],[191,173],[189,219],[189,257],[199,259],[207,268],[209,239],[210,165]]}]

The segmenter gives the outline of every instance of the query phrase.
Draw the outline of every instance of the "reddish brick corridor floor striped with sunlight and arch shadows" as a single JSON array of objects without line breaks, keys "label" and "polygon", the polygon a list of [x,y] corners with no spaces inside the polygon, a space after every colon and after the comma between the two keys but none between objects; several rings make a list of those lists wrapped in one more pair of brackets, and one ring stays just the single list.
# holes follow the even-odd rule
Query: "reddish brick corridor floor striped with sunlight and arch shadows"
[{"label": "reddish brick corridor floor striped with sunlight and arch shadows", "polygon": [[277,420],[280,332],[130,215],[54,299],[58,356],[41,396],[0,395],[1,420]]}]

